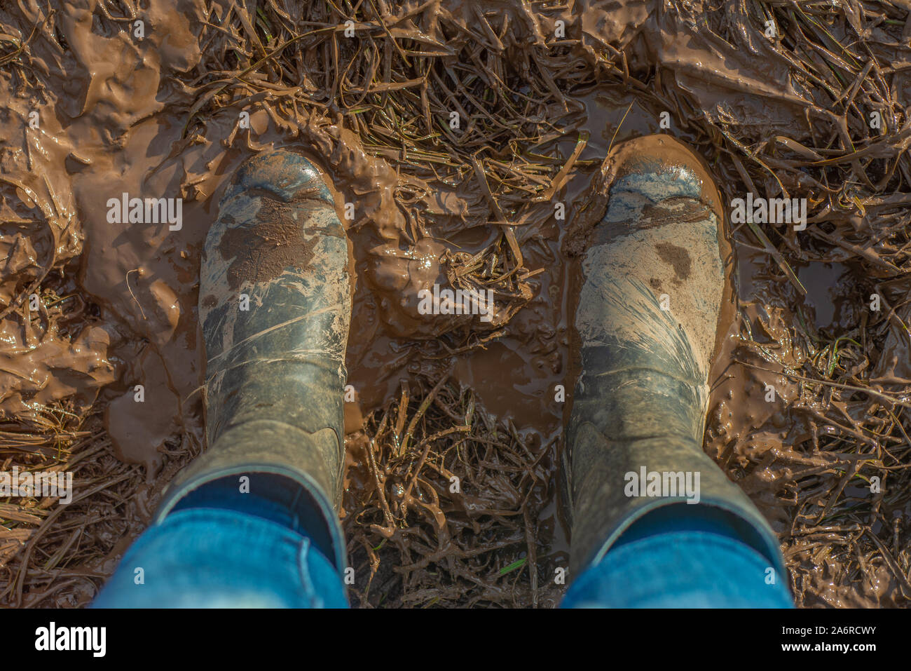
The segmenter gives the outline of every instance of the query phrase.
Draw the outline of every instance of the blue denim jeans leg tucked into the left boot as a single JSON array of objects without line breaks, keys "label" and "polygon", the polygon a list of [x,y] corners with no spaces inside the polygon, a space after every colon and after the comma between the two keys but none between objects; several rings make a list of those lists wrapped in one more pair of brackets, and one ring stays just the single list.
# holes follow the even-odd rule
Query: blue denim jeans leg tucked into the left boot
[{"label": "blue denim jeans leg tucked into the left boot", "polygon": [[[208,488],[208,489],[207,489]],[[338,570],[274,501],[204,485],[133,543],[95,608],[345,608]]]}]

